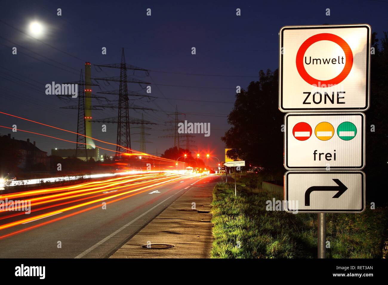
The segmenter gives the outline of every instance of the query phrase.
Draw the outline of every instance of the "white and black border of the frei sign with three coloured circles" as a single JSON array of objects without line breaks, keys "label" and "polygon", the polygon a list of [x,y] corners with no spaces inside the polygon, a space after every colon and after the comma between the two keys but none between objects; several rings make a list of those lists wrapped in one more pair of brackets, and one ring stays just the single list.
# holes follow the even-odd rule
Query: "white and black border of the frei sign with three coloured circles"
[{"label": "white and black border of the frei sign with three coloured circles", "polygon": [[366,154],[365,154],[365,114],[364,113],[361,113],[361,112],[351,112],[351,113],[345,113],[345,112],[310,112],[310,113],[305,113],[305,112],[289,112],[287,113],[285,116],[284,116],[284,157],[283,157],[283,166],[284,168],[286,168],[287,170],[296,170],[296,169],[325,169],[326,166],[298,166],[298,167],[290,167],[287,165],[288,163],[288,159],[287,159],[287,149],[288,149],[288,140],[287,140],[287,137],[288,137],[288,128],[287,128],[287,118],[288,116],[309,116],[309,115],[312,115],[312,116],[338,116],[338,115],[344,115],[344,116],[348,116],[348,115],[361,115],[362,116],[362,120],[361,120],[361,143],[362,143],[362,147],[361,147],[361,166],[330,166],[330,169],[351,169],[351,170],[361,170],[361,169],[364,169],[365,168],[365,158],[366,158]]}]

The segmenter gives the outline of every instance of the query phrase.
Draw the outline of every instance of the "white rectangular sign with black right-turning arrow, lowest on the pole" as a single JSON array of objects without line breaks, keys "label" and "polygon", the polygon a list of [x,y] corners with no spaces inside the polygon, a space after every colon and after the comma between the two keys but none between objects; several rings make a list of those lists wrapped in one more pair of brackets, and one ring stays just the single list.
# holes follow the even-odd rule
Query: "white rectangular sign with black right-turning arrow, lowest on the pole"
[{"label": "white rectangular sign with black right-turning arrow, lowest on the pole", "polygon": [[284,174],[287,212],[345,212],[365,210],[362,171],[287,171]]}]

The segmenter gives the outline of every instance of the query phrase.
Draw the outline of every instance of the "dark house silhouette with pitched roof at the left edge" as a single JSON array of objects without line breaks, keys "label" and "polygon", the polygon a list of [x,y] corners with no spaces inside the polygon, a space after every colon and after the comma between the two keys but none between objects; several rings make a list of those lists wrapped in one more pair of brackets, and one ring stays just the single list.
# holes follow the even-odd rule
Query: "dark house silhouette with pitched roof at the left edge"
[{"label": "dark house silhouette with pitched roof at the left edge", "polygon": [[36,164],[44,164],[45,166],[49,166],[49,157],[47,157],[47,152],[40,150],[36,147],[35,142],[29,142],[29,138],[27,141],[24,140],[15,140],[14,137],[11,139],[11,134],[8,136],[3,136],[4,139],[8,139],[12,142],[12,145],[19,150],[21,155],[21,159],[17,167],[21,169],[31,168]]}]

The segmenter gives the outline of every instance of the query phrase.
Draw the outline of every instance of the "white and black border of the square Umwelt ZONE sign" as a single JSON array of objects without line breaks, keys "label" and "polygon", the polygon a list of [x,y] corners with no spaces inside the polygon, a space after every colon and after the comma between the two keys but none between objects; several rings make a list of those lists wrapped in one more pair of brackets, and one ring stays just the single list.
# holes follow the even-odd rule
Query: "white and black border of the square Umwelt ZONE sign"
[{"label": "white and black border of the square Umwelt ZONE sign", "polygon": [[[284,109],[282,106],[283,103],[283,55],[282,55],[282,47],[283,47],[283,31],[286,29],[330,29],[330,28],[367,28],[368,35],[367,35],[367,59],[366,59],[366,94],[365,94],[365,107],[360,108],[304,108],[304,109],[298,109],[298,108],[286,108]],[[329,112],[335,112],[335,111],[359,111],[359,112],[365,112],[370,107],[370,100],[371,100],[371,36],[372,36],[372,28],[368,24],[348,24],[348,25],[308,25],[308,26],[283,26],[280,28],[279,31],[279,110],[283,113],[287,112],[308,112],[308,111],[315,111],[315,110],[322,110],[322,111],[329,111]]]}]

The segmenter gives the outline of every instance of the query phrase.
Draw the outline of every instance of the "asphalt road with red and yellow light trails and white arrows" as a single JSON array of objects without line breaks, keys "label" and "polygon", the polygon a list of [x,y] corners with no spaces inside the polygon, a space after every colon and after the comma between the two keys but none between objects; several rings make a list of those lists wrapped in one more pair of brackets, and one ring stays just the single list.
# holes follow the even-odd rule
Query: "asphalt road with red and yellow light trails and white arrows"
[{"label": "asphalt road with red and yellow light trails and white arrows", "polygon": [[31,203],[30,214],[26,209],[0,212],[0,257],[109,257],[187,189],[210,177],[175,171],[128,174],[62,188],[0,192],[2,201]]}]

